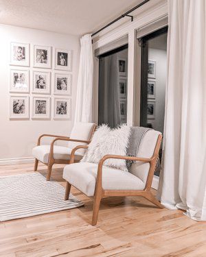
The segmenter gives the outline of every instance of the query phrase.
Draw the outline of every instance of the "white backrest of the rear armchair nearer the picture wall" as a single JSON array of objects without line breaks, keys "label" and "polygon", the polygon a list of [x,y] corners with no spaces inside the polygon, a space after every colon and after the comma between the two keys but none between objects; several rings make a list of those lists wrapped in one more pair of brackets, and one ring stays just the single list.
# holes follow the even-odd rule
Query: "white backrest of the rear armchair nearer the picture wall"
[{"label": "white backrest of the rear armchair nearer the picture wall", "polygon": [[[76,122],[71,130],[70,138],[79,140],[91,140],[95,130],[95,123]],[[68,147],[73,149],[78,145],[87,145],[86,143],[69,142]],[[84,149],[78,149],[78,153],[84,155]]]}]

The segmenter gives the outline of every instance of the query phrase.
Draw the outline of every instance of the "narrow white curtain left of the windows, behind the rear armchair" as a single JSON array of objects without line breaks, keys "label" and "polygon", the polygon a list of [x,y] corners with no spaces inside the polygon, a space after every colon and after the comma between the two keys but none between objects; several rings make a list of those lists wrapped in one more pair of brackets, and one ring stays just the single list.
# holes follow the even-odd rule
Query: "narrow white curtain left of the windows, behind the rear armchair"
[{"label": "narrow white curtain left of the windows, behind the rear armchair", "polygon": [[93,51],[91,34],[82,36],[75,121],[91,122],[93,93]]}]

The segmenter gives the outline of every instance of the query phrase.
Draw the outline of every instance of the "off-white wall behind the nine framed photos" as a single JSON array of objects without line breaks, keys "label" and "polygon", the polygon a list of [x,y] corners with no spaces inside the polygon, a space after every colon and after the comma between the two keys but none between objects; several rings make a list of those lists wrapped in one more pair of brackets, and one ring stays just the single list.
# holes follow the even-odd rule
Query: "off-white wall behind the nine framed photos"
[{"label": "off-white wall behind the nine framed photos", "polygon": [[[10,158],[27,158],[32,156],[32,147],[40,134],[62,134],[69,135],[73,126],[73,116],[76,105],[76,85],[78,79],[78,66],[80,44],[77,36],[56,34],[36,29],[26,29],[0,25],[1,49],[0,49],[0,161]],[[32,44],[52,46],[54,61],[54,48],[72,50],[72,114],[71,121],[10,121],[9,117],[9,71],[14,66],[9,65],[10,42],[30,43],[32,64]],[[54,67],[54,62],[52,68]],[[21,67],[19,66],[19,68]],[[30,66],[30,88],[32,86],[32,66]],[[36,68],[36,70],[38,70]],[[49,71],[49,69],[45,69]],[[52,71],[52,86],[54,81],[54,69]],[[30,90],[31,92],[31,90]],[[30,93],[30,96],[32,93]],[[31,98],[31,97],[30,97]],[[30,99],[31,100],[31,99]],[[53,99],[52,99],[53,100]],[[30,114],[32,113],[32,101],[30,101]],[[53,102],[52,102],[53,106]],[[53,109],[52,109],[53,112]],[[30,115],[31,116],[31,115]]]}]

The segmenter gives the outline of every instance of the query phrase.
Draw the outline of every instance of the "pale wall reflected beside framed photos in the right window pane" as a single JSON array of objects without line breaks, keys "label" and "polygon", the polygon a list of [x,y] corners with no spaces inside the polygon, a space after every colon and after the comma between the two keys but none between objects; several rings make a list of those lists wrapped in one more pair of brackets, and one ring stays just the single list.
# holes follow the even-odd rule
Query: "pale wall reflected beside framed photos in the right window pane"
[{"label": "pale wall reflected beside framed photos in the right window pane", "polygon": [[161,49],[148,49],[148,59],[156,62],[156,78],[151,79],[156,82],[155,92],[155,119],[150,119],[150,123],[155,130],[163,133],[163,121],[165,115],[165,85],[167,79],[167,52]]}]

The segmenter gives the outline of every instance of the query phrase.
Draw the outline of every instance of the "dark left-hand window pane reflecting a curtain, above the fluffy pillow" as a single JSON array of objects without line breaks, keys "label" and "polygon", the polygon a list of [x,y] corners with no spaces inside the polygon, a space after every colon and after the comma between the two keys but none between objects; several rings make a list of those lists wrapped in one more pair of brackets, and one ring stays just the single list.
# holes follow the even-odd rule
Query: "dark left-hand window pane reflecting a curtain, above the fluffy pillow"
[{"label": "dark left-hand window pane reflecting a curtain, above the fluffy pillow", "polygon": [[126,123],[128,45],[99,58],[99,124],[117,127]]}]

